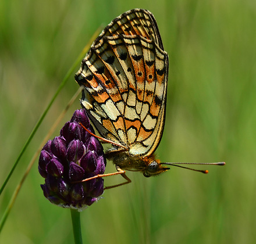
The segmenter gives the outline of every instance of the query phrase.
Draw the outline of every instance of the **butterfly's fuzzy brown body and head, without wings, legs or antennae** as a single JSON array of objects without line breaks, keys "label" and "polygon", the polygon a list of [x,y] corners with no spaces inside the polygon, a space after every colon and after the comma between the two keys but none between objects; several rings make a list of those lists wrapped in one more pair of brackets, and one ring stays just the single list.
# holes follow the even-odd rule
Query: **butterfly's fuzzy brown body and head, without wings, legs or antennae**
[{"label": "butterfly's fuzzy brown body and head, without wings, legs or antennae", "polygon": [[112,162],[122,170],[129,171],[141,171],[145,177],[150,177],[152,175],[158,175],[166,170],[168,167],[162,166],[160,160],[155,159],[154,155],[150,156],[140,156],[131,155],[129,150],[108,150],[105,153],[107,159],[112,160]]}]

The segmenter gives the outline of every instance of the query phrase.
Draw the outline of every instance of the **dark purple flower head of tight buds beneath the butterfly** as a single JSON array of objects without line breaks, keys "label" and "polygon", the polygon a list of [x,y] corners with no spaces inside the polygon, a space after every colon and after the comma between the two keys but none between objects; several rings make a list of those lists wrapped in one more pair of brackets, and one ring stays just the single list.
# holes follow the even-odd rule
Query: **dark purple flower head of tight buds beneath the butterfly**
[{"label": "dark purple flower head of tight buds beneath the butterfly", "polygon": [[42,148],[38,171],[45,178],[41,185],[45,198],[59,206],[81,210],[102,195],[102,178],[83,180],[104,174],[106,160],[101,143],[80,123],[93,131],[86,110],[76,110],[60,136]]}]

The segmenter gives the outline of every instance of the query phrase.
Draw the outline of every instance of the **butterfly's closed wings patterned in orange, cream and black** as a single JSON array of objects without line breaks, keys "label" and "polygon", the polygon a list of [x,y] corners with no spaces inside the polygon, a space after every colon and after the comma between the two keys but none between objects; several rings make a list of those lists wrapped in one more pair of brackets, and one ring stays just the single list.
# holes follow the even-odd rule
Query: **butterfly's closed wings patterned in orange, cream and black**
[{"label": "butterfly's closed wings patterned in orange, cream and black", "polygon": [[133,9],[112,20],[75,78],[101,137],[130,155],[152,155],[162,137],[168,83],[168,54],[152,13]]}]

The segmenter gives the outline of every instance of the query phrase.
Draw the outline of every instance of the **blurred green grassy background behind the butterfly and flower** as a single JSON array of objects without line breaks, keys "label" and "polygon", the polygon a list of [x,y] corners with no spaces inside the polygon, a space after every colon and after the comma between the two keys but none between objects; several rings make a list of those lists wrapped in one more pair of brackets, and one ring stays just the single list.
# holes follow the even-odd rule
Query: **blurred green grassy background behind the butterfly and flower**
[{"label": "blurred green grassy background behind the butterfly and flower", "polygon": [[[162,162],[219,162],[208,175],[172,167],[128,173],[81,213],[84,243],[253,243],[256,239],[256,4],[250,0],[0,1],[0,184],[67,70],[102,25],[150,10],[169,53]],[[77,66],[76,71],[79,69]],[[74,71],[75,73],[75,71]],[[1,217],[42,138],[79,87],[73,75],[0,198]],[[79,98],[51,138],[59,134]],[[114,172],[108,163],[106,173]],[[105,185],[123,181],[105,178]],[[42,195],[37,163],[0,243],[73,243],[70,211]]]}]

